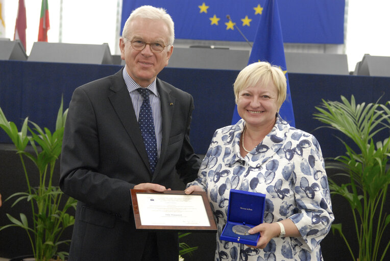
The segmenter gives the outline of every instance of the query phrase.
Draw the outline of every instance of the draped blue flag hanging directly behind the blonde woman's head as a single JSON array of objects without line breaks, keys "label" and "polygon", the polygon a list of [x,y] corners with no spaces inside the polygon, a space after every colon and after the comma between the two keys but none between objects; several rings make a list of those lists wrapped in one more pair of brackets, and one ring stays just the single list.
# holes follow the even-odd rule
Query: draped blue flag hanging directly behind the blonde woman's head
[{"label": "draped blue flag hanging directly behind the blonde woman's head", "polygon": [[[263,14],[261,16],[255,41],[251,50],[248,64],[266,61],[272,65],[279,66],[287,81],[287,96],[280,108],[280,116],[291,126],[295,127],[293,103],[291,102],[290,86],[284,57],[283,36],[280,25],[278,3],[276,0],[266,0]],[[232,124],[237,123],[240,116],[237,113],[237,106],[233,112]]]}]

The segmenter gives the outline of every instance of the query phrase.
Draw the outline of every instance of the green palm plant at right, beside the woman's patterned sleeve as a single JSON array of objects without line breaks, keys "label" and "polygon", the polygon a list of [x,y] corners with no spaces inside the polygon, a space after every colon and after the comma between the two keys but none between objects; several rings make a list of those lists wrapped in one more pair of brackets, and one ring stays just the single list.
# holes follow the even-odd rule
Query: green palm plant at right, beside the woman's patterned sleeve
[{"label": "green palm plant at right, beside the woman's patterned sleeve", "polygon": [[[347,177],[347,183],[336,184],[329,180],[332,194],[340,195],[348,200],[351,207],[356,237],[347,239],[342,224],[333,224],[332,231],[338,231],[344,239],[353,260],[384,260],[390,242],[382,242],[388,232],[390,214],[386,210],[385,200],[390,184],[390,108],[385,104],[355,103],[341,96],[342,102],[322,100],[319,113],[314,118],[329,124],[330,128],[345,134],[350,141],[339,140],[346,148],[345,155],[339,155],[327,168],[337,168]],[[379,133],[385,132],[384,140],[376,140]],[[338,163],[338,164],[337,164]],[[353,253],[349,242],[357,240],[358,253]],[[383,248],[383,249],[382,249]]]}]

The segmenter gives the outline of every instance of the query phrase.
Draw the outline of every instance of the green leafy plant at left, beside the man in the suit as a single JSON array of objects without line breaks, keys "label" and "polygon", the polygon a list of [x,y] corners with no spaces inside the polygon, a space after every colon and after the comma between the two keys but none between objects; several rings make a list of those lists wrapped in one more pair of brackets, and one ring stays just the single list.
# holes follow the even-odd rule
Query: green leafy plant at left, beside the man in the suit
[{"label": "green leafy plant at left, beside the man in the suit", "polygon": [[[53,256],[64,260],[67,253],[58,252],[58,246],[70,240],[61,241],[61,234],[65,228],[75,223],[74,216],[69,215],[68,211],[70,208],[76,209],[76,200],[63,199],[63,192],[59,187],[53,186],[53,174],[61,153],[66,115],[67,110],[63,113],[61,100],[54,133],[48,128],[42,129],[36,123],[29,121],[28,117],[18,131],[16,124],[9,122],[0,108],[0,127],[15,145],[27,181],[26,191],[14,193],[5,202],[14,199],[12,204],[14,206],[22,200],[27,200],[29,205],[31,204],[32,211],[31,219],[23,213],[20,213],[18,218],[7,214],[11,224],[0,227],[0,230],[14,226],[25,229],[37,261],[47,261]],[[32,178],[25,164],[27,159],[31,160],[38,169],[37,187],[30,182]],[[32,220],[32,224],[29,224],[28,220]]]}]

